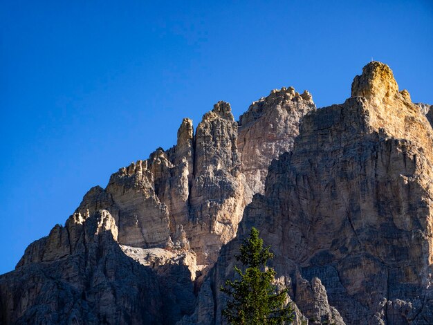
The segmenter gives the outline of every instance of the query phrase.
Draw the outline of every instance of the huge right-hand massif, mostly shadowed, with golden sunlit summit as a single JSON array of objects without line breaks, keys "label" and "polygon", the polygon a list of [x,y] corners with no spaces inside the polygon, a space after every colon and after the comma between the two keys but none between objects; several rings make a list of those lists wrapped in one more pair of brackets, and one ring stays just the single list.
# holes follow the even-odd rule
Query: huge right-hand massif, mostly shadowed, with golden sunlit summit
[{"label": "huge right-hand massif, mostly shadowed, with golden sunlit summit", "polygon": [[[347,324],[432,323],[432,133],[389,67],[367,64],[344,104],[303,118],[206,281],[218,288],[230,276],[255,226],[277,274],[300,284],[292,298],[307,318],[341,322],[338,310]],[[321,286],[330,306],[313,302]],[[223,322],[224,299],[214,295]]]}]

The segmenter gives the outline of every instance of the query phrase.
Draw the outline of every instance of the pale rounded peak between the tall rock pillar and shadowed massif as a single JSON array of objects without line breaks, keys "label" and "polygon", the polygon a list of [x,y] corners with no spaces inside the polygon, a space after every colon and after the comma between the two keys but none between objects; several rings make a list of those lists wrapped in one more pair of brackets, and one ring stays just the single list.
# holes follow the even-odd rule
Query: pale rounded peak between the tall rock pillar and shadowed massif
[{"label": "pale rounded peak between the tall rock pillar and shadowed massif", "polygon": [[251,189],[249,201],[253,194],[264,193],[270,162],[292,149],[300,120],[311,111],[315,111],[315,104],[308,91],[299,94],[293,87],[283,87],[252,102],[241,115],[237,143]]}]

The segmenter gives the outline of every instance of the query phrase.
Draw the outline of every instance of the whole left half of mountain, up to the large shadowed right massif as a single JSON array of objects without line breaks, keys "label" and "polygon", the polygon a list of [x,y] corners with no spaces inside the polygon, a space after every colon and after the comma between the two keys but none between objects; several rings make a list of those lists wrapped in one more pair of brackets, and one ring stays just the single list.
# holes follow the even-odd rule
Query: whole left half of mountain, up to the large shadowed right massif
[{"label": "whole left half of mountain, up to the large shadowed right massif", "polygon": [[[185,118],[174,147],[90,189],[64,227],[30,244],[17,269],[0,277],[0,323],[174,324],[191,315],[270,160],[293,145],[300,118],[315,109],[306,100],[274,91],[259,100],[258,115],[252,104],[241,118],[241,133],[226,102],[203,115],[195,134]],[[250,150],[261,159],[243,167]],[[259,171],[254,182],[247,167]]]}]

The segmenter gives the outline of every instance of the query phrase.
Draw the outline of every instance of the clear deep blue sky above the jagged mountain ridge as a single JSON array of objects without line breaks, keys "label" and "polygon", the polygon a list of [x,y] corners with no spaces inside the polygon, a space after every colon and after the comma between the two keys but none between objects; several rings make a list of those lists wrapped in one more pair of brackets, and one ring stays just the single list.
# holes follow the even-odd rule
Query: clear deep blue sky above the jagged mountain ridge
[{"label": "clear deep blue sky above the jagged mountain ridge", "polygon": [[343,102],[373,57],[433,102],[433,1],[0,3],[0,273],[218,100]]}]

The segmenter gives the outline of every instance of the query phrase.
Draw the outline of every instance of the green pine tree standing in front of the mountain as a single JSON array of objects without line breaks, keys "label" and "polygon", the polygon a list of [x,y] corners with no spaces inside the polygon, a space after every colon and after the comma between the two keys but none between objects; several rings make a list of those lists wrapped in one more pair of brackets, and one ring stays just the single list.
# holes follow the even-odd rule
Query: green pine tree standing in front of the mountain
[{"label": "green pine tree standing in front of the mountain", "polygon": [[290,324],[293,309],[286,304],[287,289],[277,290],[273,284],[275,270],[266,263],[273,259],[270,247],[263,247],[259,231],[252,228],[250,236],[243,241],[240,254],[236,256],[245,269],[234,266],[239,279],[225,281],[220,290],[229,296],[222,314],[229,324],[264,325]]}]

